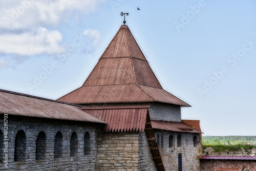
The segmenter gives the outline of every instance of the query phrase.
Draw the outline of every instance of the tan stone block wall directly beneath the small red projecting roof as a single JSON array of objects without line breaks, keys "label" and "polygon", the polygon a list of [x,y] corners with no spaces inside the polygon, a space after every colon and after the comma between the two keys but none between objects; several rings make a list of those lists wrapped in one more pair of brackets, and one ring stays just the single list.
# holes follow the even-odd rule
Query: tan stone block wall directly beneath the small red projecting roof
[{"label": "tan stone block wall directly beneath the small red projecting roof", "polygon": [[99,133],[97,169],[156,170],[145,138],[144,132]]}]

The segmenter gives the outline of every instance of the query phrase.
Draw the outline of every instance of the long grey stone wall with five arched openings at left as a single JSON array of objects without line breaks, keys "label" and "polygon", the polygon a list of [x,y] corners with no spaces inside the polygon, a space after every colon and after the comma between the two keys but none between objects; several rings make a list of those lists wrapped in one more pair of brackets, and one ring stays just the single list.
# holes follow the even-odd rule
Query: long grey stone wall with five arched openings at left
[{"label": "long grey stone wall with five arched openings at left", "polygon": [[[0,170],[96,170],[96,137],[97,130],[101,129],[100,124],[12,115],[9,115],[8,121],[8,167],[5,167],[2,161]],[[0,119],[2,132],[4,130],[3,123],[3,119]],[[19,146],[17,148],[22,151],[21,154],[24,160],[14,161],[15,137],[20,130],[26,135],[26,140],[22,142],[25,147]],[[45,133],[46,139],[44,134],[41,134],[42,132]],[[60,132],[63,136],[62,156],[54,158],[55,135],[57,132]],[[74,157],[70,157],[70,140],[73,132],[77,135],[77,153]],[[84,134],[87,132],[90,134],[91,150],[88,155],[84,155]],[[36,140],[39,133],[39,137],[42,138],[39,138],[38,141],[41,140],[46,143],[40,144],[40,148],[36,149]],[[19,141],[16,141],[16,144],[18,143]],[[42,147],[46,147],[45,152]],[[44,156],[41,156],[44,159],[37,157],[39,160],[36,160],[36,151],[44,154]]]}]

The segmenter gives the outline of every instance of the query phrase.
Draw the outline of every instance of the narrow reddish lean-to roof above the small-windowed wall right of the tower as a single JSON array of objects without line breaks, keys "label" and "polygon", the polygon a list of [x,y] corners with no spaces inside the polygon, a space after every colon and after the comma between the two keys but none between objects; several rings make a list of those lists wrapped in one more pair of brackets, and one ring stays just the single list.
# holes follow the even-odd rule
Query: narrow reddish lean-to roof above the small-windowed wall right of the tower
[{"label": "narrow reddish lean-to roof above the small-windowed wall right of the tower", "polygon": [[166,121],[151,121],[153,129],[174,131],[174,132],[186,132],[186,133],[202,133],[181,122],[166,122]]}]

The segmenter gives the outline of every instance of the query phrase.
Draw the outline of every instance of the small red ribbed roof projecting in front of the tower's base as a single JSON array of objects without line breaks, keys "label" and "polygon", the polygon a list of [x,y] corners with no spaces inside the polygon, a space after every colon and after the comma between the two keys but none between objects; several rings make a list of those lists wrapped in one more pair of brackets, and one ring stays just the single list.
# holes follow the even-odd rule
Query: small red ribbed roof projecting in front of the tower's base
[{"label": "small red ribbed roof projecting in front of the tower's base", "polygon": [[147,108],[150,106],[102,106],[80,109],[104,120],[107,123],[105,132],[136,132],[145,129]]}]

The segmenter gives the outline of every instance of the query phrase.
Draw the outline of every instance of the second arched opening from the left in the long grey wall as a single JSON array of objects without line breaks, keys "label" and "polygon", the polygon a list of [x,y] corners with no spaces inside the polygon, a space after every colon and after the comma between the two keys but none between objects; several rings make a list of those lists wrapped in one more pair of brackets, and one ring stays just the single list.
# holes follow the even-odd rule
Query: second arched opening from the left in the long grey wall
[{"label": "second arched opening from the left in the long grey wall", "polygon": [[46,134],[42,131],[37,135],[36,138],[35,159],[46,159]]}]

